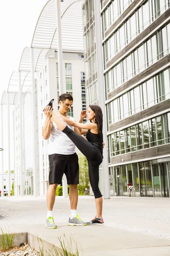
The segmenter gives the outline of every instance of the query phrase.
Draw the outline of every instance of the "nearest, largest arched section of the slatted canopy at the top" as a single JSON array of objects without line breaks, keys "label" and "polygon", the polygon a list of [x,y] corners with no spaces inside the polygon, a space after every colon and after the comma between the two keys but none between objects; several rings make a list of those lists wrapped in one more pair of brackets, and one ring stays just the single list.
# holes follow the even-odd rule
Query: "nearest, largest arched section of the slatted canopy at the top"
[{"label": "nearest, largest arched section of the slatted canopy at the top", "polygon": [[[84,0],[61,2],[62,50],[83,52],[82,4]],[[49,0],[42,9],[31,47],[57,49],[56,0]]]}]

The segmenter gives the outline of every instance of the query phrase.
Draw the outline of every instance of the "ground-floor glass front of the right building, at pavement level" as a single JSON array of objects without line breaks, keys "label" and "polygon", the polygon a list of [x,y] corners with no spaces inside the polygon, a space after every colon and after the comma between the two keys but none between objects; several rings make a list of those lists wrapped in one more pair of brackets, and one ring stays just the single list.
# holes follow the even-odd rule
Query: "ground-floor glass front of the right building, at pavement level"
[{"label": "ground-floor glass front of the right building, at pavement level", "polygon": [[170,197],[170,162],[130,163],[113,166],[110,172],[111,195],[133,196],[134,191],[135,196]]}]

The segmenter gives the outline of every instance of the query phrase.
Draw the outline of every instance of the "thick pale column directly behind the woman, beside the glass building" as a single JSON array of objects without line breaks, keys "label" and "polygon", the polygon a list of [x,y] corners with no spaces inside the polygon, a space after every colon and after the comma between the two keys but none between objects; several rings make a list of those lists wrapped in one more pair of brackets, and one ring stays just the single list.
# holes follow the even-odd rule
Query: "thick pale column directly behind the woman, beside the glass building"
[{"label": "thick pale column directly behind the woman, beside the glass building", "polygon": [[103,141],[105,148],[103,149],[103,198],[110,198],[110,184],[108,172],[108,149],[107,149],[107,129],[106,129],[106,113],[105,113],[105,88],[104,88],[104,73],[103,73],[103,56],[102,56],[102,32],[101,32],[101,14],[99,0],[94,0],[95,14],[95,35],[96,35],[96,58],[97,58],[97,77],[99,90],[99,106],[103,112]]}]

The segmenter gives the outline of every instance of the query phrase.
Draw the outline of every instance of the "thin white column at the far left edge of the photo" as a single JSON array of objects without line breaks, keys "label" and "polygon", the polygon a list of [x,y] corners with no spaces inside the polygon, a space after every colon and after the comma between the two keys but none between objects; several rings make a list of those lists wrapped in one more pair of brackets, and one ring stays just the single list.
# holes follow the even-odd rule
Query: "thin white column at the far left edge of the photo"
[{"label": "thin white column at the far left edge of the photo", "polygon": [[[0,147],[3,148],[3,105],[0,105]],[[1,154],[1,197],[3,197],[3,151]]]}]

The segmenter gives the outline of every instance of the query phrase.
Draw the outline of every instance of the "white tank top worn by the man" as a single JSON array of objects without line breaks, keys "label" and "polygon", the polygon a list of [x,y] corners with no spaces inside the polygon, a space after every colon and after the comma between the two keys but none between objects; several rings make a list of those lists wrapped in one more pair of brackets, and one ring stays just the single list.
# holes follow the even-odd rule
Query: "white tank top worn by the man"
[{"label": "white tank top worn by the man", "polygon": [[[73,117],[70,117],[74,120]],[[61,119],[62,120],[62,119]],[[63,120],[62,120],[63,121]],[[64,121],[63,121],[64,122]],[[68,125],[65,122],[66,125]],[[68,125],[74,131],[74,127]],[[55,122],[53,122],[53,127],[51,129],[51,135],[48,139],[48,154],[74,154],[76,153],[76,146],[74,143],[59,130]]]}]

